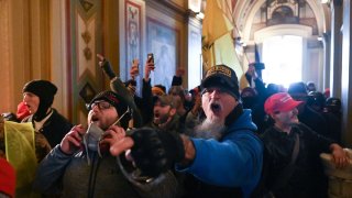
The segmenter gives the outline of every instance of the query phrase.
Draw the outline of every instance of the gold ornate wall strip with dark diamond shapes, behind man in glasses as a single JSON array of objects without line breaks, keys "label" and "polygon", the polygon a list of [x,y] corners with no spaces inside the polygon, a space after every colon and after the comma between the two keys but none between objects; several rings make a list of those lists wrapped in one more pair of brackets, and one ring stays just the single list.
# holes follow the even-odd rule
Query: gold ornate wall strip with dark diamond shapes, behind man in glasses
[{"label": "gold ornate wall strip with dark diamond shapes, behind man in glasses", "polygon": [[[102,51],[102,7],[100,0],[68,1],[69,52],[72,76],[69,109],[74,123],[87,122],[86,103],[103,90],[103,76],[96,54]],[[74,108],[73,108],[74,107]]]}]

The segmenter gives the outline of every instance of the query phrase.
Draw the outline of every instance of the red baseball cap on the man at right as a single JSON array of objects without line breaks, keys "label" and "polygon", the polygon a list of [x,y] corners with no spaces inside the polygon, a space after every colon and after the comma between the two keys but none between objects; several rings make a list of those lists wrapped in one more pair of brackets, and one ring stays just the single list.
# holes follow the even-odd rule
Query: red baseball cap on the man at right
[{"label": "red baseball cap on the man at right", "polygon": [[274,112],[286,112],[295,109],[302,101],[294,100],[287,92],[277,92],[268,97],[264,103],[264,110],[267,114]]}]

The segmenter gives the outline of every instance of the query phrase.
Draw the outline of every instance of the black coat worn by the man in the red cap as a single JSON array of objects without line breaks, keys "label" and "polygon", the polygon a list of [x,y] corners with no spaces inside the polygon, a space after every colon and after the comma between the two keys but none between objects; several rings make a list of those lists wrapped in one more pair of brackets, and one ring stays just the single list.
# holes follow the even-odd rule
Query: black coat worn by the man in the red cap
[{"label": "black coat worn by the man in the red cap", "polygon": [[272,127],[262,135],[267,152],[265,186],[273,190],[278,175],[289,164],[296,133],[299,135],[299,153],[294,173],[280,189],[274,191],[275,197],[327,197],[328,180],[323,175],[319,154],[330,153],[329,147],[333,142],[302,123],[294,125],[289,134]]}]

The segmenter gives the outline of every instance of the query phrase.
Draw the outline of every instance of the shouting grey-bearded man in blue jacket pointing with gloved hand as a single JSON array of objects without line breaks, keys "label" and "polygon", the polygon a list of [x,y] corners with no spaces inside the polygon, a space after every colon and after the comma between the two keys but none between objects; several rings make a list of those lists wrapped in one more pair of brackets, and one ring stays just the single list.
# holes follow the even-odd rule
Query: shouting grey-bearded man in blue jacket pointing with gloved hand
[{"label": "shouting grey-bearded man in blue jacket pointing with gloved hand", "polygon": [[136,166],[154,176],[166,169],[163,164],[176,165],[196,182],[185,185],[186,197],[250,197],[261,177],[263,144],[251,110],[242,108],[234,70],[211,67],[201,81],[201,100],[207,118],[196,128],[196,138],[142,129],[111,144],[110,152],[131,148]]}]

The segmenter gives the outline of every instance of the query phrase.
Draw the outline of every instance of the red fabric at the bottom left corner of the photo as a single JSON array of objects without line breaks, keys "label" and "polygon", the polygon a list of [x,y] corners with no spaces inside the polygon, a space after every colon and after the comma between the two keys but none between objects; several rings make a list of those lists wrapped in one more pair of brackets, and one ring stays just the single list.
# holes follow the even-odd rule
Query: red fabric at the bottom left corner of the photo
[{"label": "red fabric at the bottom left corner of the photo", "polygon": [[14,197],[15,172],[8,161],[0,158],[0,191]]}]

